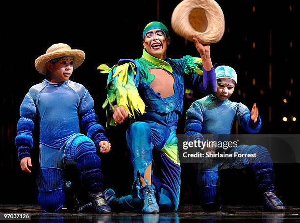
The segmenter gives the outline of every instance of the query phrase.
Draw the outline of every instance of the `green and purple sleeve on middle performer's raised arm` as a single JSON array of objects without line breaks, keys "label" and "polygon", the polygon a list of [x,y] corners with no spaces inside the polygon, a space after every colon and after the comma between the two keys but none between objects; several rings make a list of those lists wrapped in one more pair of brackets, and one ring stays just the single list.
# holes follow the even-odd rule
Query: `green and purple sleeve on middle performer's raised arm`
[{"label": "green and purple sleeve on middle performer's raised arm", "polygon": [[202,59],[186,55],[183,57],[185,68],[188,74],[186,78],[187,88],[196,89],[204,94],[214,94],[217,91],[217,79],[215,69],[205,71],[202,67]]}]

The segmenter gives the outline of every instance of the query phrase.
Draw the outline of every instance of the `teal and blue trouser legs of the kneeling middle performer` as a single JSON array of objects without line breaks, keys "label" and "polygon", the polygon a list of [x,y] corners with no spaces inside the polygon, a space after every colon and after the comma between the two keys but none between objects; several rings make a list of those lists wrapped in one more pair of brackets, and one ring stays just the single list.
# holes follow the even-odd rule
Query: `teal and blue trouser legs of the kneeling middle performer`
[{"label": "teal and blue trouser legs of the kneeling middle performer", "polygon": [[[173,127],[172,127],[173,126]],[[116,198],[115,192],[112,189],[104,191],[104,196],[108,203],[115,210],[141,210],[143,207],[142,195],[137,188],[141,188],[138,178],[138,173],[145,173],[145,170],[152,162],[155,166],[154,174],[152,174],[152,185],[156,191],[156,200],[161,211],[177,210],[180,194],[180,172],[181,168],[174,163],[163,151],[156,149],[163,148],[169,141],[171,144],[175,140],[175,134],[170,134],[170,131],[175,131],[176,127],[173,124],[168,126],[168,131],[159,128],[158,124],[146,122],[136,122],[127,130],[127,144],[131,152],[131,160],[134,167],[135,182],[133,184],[132,195],[127,195],[122,198]],[[170,130],[171,129],[171,130]],[[138,133],[136,133],[138,132]],[[162,141],[164,136],[165,140]],[[152,151],[153,145],[155,150]],[[153,155],[152,155],[153,154]],[[154,162],[153,162],[153,160]],[[152,167],[153,167],[152,166]]]}]

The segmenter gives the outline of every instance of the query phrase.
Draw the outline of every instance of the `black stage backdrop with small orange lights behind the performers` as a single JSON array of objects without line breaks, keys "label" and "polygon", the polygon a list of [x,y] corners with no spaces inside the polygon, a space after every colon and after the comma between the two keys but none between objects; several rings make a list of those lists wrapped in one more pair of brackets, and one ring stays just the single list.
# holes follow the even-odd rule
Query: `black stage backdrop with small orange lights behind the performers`
[{"label": "black stage backdrop with small orange lights behind the performers", "polygon": [[[92,1],[91,1],[92,2]],[[142,31],[150,21],[161,21],[169,28],[171,45],[168,56],[199,56],[193,43],[177,36],[171,28],[171,15],[180,0],[134,0],[88,2],[51,2],[51,5],[13,3],[1,7],[0,19],[0,203],[35,204],[38,170],[38,131],[32,150],[32,173],[22,173],[14,139],[19,107],[29,88],[40,83],[34,60],[54,43],[66,43],[84,50],[86,59],[71,80],[83,84],[95,100],[100,124],[105,125],[101,106],[106,98],[106,75],[96,68],[109,66],[120,58],[137,58],[142,54]],[[233,101],[249,108],[257,103],[263,120],[261,133],[299,132],[299,1],[217,0],[225,14],[225,34],[211,44],[211,57],[217,65],[229,65],[238,73]],[[33,5],[32,5],[33,7]],[[185,99],[190,104],[204,97],[194,94]],[[184,111],[184,113],[185,113]],[[287,118],[283,122],[283,117]],[[293,121],[293,117],[296,121]],[[294,119],[295,120],[295,119]],[[36,124],[37,126],[38,124]],[[177,133],[183,133],[182,116]],[[104,184],[118,195],[128,194],[133,169],[125,144],[127,124],[109,127],[112,144],[109,154],[100,154]],[[233,132],[243,133],[235,123]],[[284,148],[282,148],[284,149]],[[182,164],[181,204],[197,203],[197,167]],[[287,205],[299,205],[299,164],[275,164],[277,195]],[[67,170],[68,179],[82,192],[75,167]],[[254,173],[251,170],[227,170],[221,173],[224,204],[259,204]],[[296,193],[295,193],[296,192]]]}]

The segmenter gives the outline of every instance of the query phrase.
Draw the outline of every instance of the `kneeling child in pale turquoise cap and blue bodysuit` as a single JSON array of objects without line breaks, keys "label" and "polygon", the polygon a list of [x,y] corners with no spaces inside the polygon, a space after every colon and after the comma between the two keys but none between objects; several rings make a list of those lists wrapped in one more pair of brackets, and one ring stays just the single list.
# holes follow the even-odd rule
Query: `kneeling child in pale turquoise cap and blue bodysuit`
[{"label": "kneeling child in pale turquoise cap and blue bodysuit", "polygon": [[[250,110],[242,103],[230,101],[237,83],[237,74],[229,66],[216,68],[217,92],[195,101],[186,112],[185,134],[188,141],[204,141],[202,134],[214,134],[228,141],[233,121],[249,133],[258,133],[261,118],[256,104]],[[217,117],[217,118],[216,118]],[[219,134],[219,135],[218,135]],[[225,135],[226,134],[226,135]],[[209,137],[210,135],[206,135]],[[228,136],[228,137],[227,137]],[[206,140],[206,139],[205,139]],[[220,211],[219,171],[250,167],[255,173],[256,182],[263,198],[264,211],[284,211],[285,207],[275,195],[273,162],[268,149],[263,146],[239,145],[235,148],[209,148],[212,153],[226,151],[231,157],[218,159],[200,158],[198,183],[200,186],[201,206],[207,211]],[[226,149],[226,148],[225,148]],[[241,154],[237,156],[236,154]],[[246,193],[247,195],[247,193]]]}]

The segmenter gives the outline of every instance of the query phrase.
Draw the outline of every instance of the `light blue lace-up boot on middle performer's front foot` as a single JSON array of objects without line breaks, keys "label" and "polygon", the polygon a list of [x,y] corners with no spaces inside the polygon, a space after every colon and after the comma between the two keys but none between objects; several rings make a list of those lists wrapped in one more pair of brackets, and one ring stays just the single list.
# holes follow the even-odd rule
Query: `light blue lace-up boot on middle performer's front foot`
[{"label": "light blue lace-up boot on middle performer's front foot", "polygon": [[144,207],[142,211],[144,213],[158,213],[159,207],[156,202],[154,190],[151,185],[145,185],[141,187],[144,199]]}]

